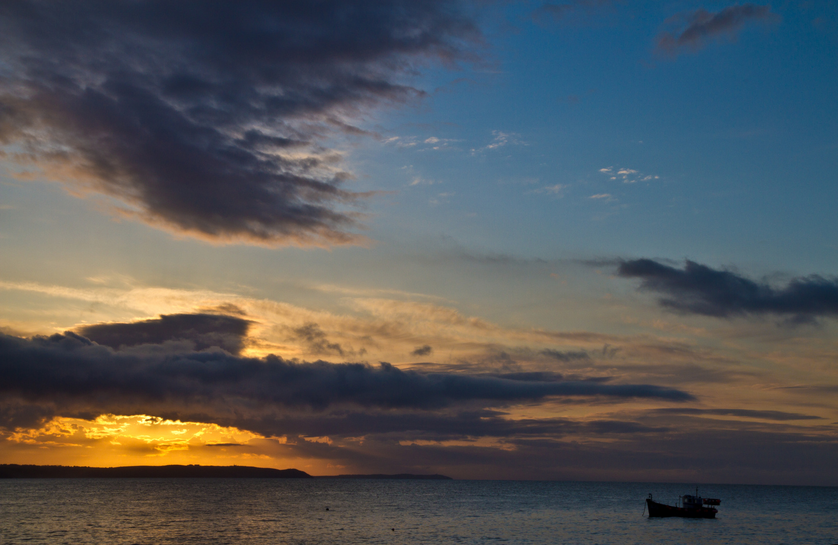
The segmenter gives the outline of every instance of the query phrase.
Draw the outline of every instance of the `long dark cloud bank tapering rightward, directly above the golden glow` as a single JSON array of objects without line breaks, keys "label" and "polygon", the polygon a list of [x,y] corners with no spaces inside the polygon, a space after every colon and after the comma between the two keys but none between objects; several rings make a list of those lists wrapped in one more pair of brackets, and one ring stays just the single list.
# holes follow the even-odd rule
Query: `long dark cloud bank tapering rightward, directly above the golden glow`
[{"label": "long dark cloud bank tapering rightward, directly above the golden glow", "polygon": [[[204,414],[201,421],[215,422],[230,414],[246,419],[248,414],[340,405],[429,410],[554,396],[692,399],[689,393],[649,384],[521,381],[402,371],[388,363],[300,363],[143,346],[115,351],[72,332],[29,340],[0,335],[0,400],[18,412],[23,400],[52,406],[54,414]],[[4,419],[5,425],[13,420],[9,415]]]}]

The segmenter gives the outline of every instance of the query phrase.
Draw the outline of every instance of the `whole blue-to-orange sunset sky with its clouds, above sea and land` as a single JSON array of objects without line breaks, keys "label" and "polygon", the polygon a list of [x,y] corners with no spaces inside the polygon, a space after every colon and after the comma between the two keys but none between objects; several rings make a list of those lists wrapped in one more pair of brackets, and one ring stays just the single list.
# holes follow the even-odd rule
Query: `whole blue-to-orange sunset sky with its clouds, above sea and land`
[{"label": "whole blue-to-orange sunset sky with its clouds, above sea and land", "polygon": [[0,5],[0,463],[838,486],[838,3]]}]

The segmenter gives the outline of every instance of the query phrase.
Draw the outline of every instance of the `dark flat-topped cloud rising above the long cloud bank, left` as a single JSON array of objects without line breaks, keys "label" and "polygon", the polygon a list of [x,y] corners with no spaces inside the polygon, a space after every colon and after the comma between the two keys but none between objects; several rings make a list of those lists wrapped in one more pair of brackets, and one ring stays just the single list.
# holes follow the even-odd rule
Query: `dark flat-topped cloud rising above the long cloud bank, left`
[{"label": "dark flat-topped cloud rising above the long cloud bank, left", "polygon": [[250,321],[235,316],[163,314],[154,320],[83,326],[78,332],[93,342],[117,349],[166,341],[190,341],[196,350],[220,347],[238,354],[244,347],[250,324]]}]

